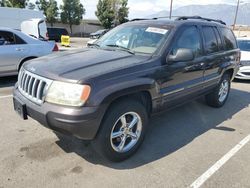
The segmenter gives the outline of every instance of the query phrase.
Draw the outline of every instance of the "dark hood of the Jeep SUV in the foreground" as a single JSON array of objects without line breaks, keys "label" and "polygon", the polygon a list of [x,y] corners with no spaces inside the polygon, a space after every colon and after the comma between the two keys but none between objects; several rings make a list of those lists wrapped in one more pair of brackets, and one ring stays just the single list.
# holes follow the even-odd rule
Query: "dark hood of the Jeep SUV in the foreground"
[{"label": "dark hood of the Jeep SUV in the foreground", "polygon": [[148,58],[126,51],[85,48],[34,59],[25,63],[24,68],[53,80],[79,81],[130,67]]}]

